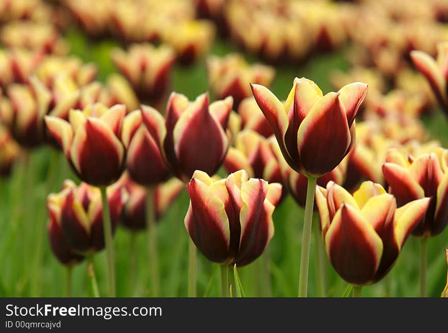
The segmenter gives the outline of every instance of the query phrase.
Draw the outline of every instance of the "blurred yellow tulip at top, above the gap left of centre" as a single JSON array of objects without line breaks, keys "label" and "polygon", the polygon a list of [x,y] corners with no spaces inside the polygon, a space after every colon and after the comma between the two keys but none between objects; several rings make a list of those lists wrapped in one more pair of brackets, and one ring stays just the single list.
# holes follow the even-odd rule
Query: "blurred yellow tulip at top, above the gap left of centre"
[{"label": "blurred yellow tulip at top, above the gap left of centre", "polygon": [[181,64],[198,60],[210,48],[215,26],[207,20],[184,20],[178,24],[165,23],[162,41],[173,46]]}]

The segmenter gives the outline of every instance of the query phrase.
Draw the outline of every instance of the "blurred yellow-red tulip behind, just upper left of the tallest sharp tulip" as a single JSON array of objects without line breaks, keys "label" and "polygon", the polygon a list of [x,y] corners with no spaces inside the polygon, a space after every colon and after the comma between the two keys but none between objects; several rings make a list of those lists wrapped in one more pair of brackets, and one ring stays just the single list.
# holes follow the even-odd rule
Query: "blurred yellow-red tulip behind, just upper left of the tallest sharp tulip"
[{"label": "blurred yellow-red tulip behind, just upper left of the tallest sharp tulip", "polygon": [[251,96],[250,82],[270,86],[274,75],[273,67],[249,65],[238,53],[223,58],[210,56],[207,59],[207,77],[216,99],[232,96],[235,108],[244,98]]}]

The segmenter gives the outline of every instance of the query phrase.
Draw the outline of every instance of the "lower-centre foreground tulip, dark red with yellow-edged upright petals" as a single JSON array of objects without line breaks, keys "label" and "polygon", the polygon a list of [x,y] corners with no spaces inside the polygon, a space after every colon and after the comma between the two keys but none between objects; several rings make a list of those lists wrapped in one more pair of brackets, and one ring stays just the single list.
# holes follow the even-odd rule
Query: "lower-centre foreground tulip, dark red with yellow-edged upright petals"
[{"label": "lower-centre foreground tulip, dark red with yellow-edged upright petals", "polygon": [[263,253],[274,234],[272,212],[282,185],[249,179],[243,170],[218,181],[195,171],[187,191],[185,227],[208,260],[244,266]]}]

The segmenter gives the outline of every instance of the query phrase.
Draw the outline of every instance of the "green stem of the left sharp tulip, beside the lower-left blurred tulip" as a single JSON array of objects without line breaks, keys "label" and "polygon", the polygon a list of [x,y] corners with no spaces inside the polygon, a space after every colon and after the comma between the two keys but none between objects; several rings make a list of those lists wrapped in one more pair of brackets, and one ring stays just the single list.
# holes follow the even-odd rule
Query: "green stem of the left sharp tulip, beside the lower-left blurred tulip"
[{"label": "green stem of the left sharp tulip, beside the lower-left blurred tulip", "polygon": [[112,223],[110,221],[109,202],[107,201],[106,187],[101,187],[101,200],[103,207],[104,243],[106,245],[107,274],[109,297],[115,297],[115,258],[114,239],[112,237]]}]

